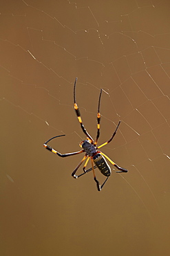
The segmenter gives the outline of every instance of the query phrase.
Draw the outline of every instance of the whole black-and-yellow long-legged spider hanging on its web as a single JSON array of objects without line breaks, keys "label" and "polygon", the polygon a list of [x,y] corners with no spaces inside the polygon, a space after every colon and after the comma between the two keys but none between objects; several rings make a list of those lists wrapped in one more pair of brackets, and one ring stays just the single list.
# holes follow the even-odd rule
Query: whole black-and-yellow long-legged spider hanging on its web
[{"label": "whole black-and-yellow long-legged spider hanging on its web", "polygon": [[[102,89],[100,90],[100,95],[99,95],[99,99],[98,99],[98,113],[97,113],[97,135],[96,135],[96,140],[94,141],[94,139],[89,135],[89,133],[87,132],[87,130],[85,129],[82,119],[81,119],[81,113],[78,109],[78,105],[76,104],[76,81],[77,81],[77,77],[76,80],[74,82],[74,109],[76,111],[76,116],[78,118],[78,122],[81,125],[81,129],[83,130],[83,133],[87,136],[86,140],[83,140],[79,145],[80,147],[82,147],[82,149],[78,152],[72,152],[72,153],[67,153],[67,154],[61,154],[59,152],[57,152],[55,149],[53,149],[52,147],[50,147],[49,145],[47,145],[47,143],[49,143],[50,140],[53,140],[54,138],[58,138],[61,136],[65,136],[65,134],[63,135],[59,135],[59,136],[54,136],[52,138],[50,138],[50,140],[47,140],[44,144],[43,147],[45,147],[47,150],[50,150],[50,152],[57,154],[58,156],[61,157],[66,157],[66,156],[74,156],[77,154],[81,154],[83,152],[85,152],[85,156],[83,156],[83,159],[81,160],[80,163],[78,163],[78,165],[76,166],[76,168],[74,169],[74,171],[72,172],[72,176],[77,179],[80,176],[82,176],[83,174],[86,174],[87,172],[92,171],[93,172],[93,176],[94,176],[94,181],[96,181],[96,185],[97,185],[97,189],[98,191],[102,190],[103,186],[105,185],[107,179],[109,178],[109,176],[111,175],[111,168],[108,165],[107,161],[105,158],[107,158],[107,160],[114,165],[119,171],[117,171],[117,173],[120,172],[128,172],[128,170],[119,167],[118,165],[116,165],[116,163],[114,163],[108,156],[106,156],[103,152],[100,152],[98,149],[100,149],[100,147],[103,147],[105,145],[107,145],[108,143],[111,142],[111,140],[114,138],[114,136],[116,135],[116,131],[118,130],[118,127],[120,125],[120,121],[118,122],[118,125],[116,127],[116,130],[114,131],[114,134],[111,136],[111,138],[109,140],[107,140],[107,142],[103,143],[100,146],[97,146],[98,143],[98,138],[100,136],[100,98],[101,98],[101,94],[102,94]],[[87,163],[89,161],[89,159],[91,159],[91,163],[92,163],[92,167],[89,168],[88,170],[85,170],[85,167],[87,166]],[[85,161],[86,160],[86,161]],[[83,173],[80,175],[76,175],[76,171],[78,170],[78,168],[81,166],[81,164],[85,161],[85,165],[83,166]],[[94,169],[98,167],[98,170],[100,170],[100,172],[106,176],[107,178],[105,179],[104,183],[102,185],[100,185],[99,181],[96,179],[96,174],[94,172]]]}]

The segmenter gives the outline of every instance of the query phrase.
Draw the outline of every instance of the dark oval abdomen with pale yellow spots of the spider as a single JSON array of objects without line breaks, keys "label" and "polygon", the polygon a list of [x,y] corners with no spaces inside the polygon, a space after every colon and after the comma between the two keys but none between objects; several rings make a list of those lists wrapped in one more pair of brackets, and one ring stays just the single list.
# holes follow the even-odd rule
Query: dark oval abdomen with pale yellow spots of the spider
[{"label": "dark oval abdomen with pale yellow spots of the spider", "polygon": [[93,161],[103,175],[110,176],[111,169],[104,156],[102,156],[100,153],[95,154]]}]

